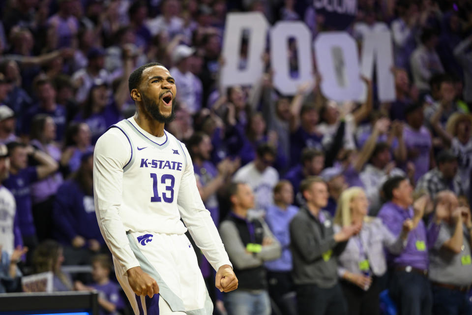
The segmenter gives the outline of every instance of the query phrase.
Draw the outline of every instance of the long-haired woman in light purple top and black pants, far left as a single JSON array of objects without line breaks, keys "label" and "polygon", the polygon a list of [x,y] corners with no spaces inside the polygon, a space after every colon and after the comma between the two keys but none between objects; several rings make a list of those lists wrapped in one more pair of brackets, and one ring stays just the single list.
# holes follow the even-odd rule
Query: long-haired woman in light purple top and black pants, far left
[{"label": "long-haired woman in light purple top and black pants, far left", "polygon": [[[60,161],[61,152],[54,142],[56,124],[52,117],[44,114],[34,116],[30,137],[34,148]],[[62,174],[58,171],[31,185],[32,211],[39,241],[51,238],[53,199],[62,181]]]}]

